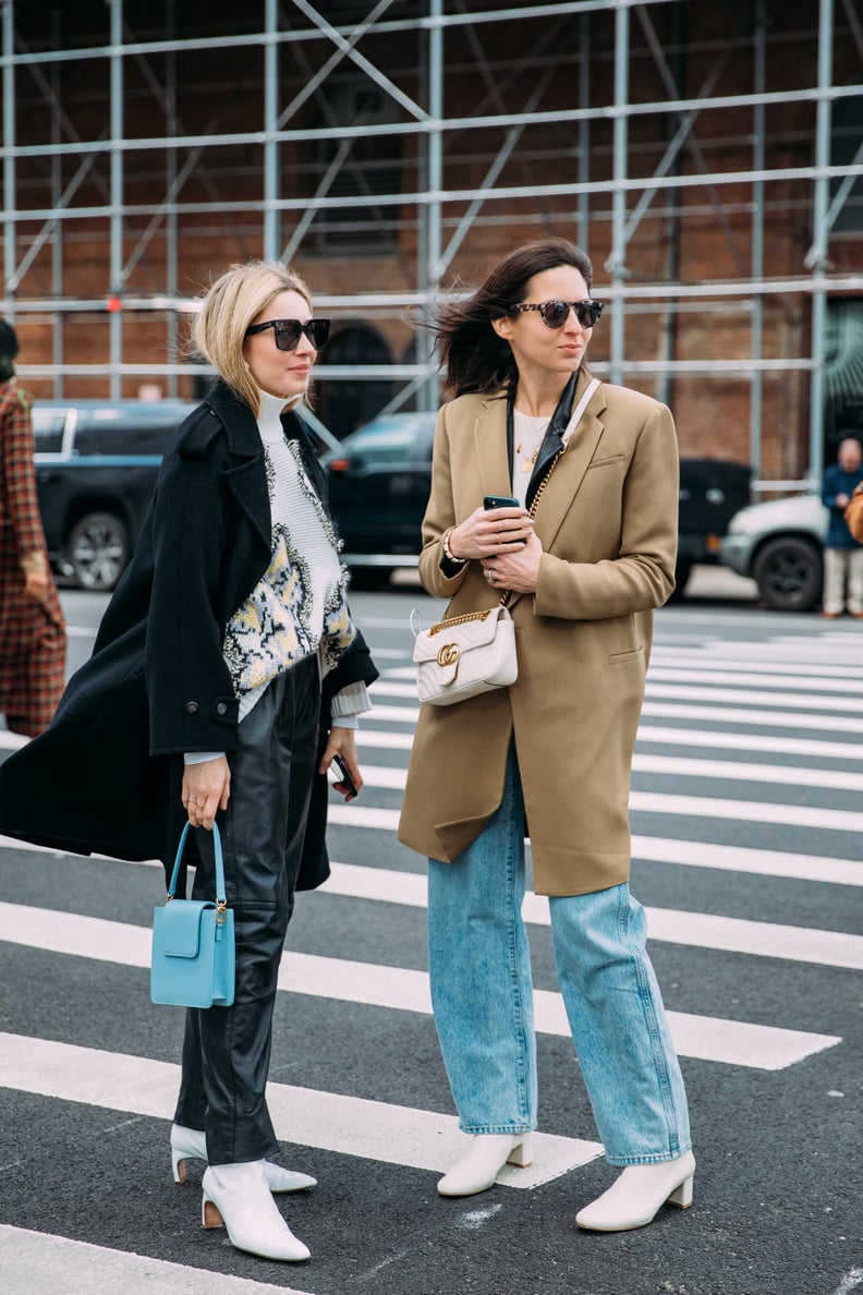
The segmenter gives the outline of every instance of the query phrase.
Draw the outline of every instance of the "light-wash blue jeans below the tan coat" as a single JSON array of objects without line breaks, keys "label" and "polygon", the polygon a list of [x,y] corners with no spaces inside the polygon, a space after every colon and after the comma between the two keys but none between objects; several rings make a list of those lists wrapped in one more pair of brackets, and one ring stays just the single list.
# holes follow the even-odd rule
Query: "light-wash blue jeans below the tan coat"
[{"label": "light-wash blue jeans below the tan coat", "polygon": [[[530,951],[521,919],[524,796],[510,752],[503,799],[454,864],[428,861],[428,965],[444,1064],[466,1133],[537,1123]],[[681,1067],[629,886],[550,900],[558,980],[611,1164],[691,1147]]]}]

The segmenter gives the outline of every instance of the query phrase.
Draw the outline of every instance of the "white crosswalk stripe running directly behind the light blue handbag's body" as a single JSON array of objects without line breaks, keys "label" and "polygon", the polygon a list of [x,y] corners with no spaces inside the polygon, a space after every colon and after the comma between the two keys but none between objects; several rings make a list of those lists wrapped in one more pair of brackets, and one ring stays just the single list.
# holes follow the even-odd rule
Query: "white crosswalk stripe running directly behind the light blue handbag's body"
[{"label": "white crosswalk stripe running directly behind the light blue handbag's body", "polygon": [[[60,913],[25,904],[0,903],[0,938],[12,944],[52,953],[94,958],[122,966],[150,965],[150,931],[101,917]],[[311,997],[338,998],[364,1006],[431,1014],[428,974],[347,958],[285,952],[278,987]],[[569,1036],[563,998],[547,989],[534,991],[536,1027],[541,1033]],[[683,1057],[716,1061],[756,1070],[783,1070],[824,1048],[838,1036],[816,1035],[776,1026],[723,1020],[670,1011],[669,1026]]]}]

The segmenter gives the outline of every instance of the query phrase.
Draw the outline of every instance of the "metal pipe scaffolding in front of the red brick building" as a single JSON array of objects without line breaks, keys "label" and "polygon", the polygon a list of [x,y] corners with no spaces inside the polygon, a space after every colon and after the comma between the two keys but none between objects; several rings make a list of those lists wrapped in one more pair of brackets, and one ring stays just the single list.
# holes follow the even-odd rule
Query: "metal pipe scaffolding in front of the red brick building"
[{"label": "metal pipe scaffolding in front of the red brick building", "polygon": [[[194,23],[177,0],[106,0],[89,23],[0,8],[3,308],[45,394],[186,394],[207,372],[180,351],[190,280],[263,255],[298,262],[334,341],[357,321],[380,341],[377,363],[362,338],[345,363],[325,352],[322,388],[431,408],[405,312],[502,246],[565,232],[611,307],[595,372],[665,400],[674,385],[675,408],[681,383],[743,381],[757,474],[765,383],[797,378],[805,458],[783,473],[774,453],[767,475],[819,474],[831,303],[863,299],[854,0],[213,0]],[[850,317],[863,328],[859,302]],[[863,413],[863,376],[847,381]]]}]

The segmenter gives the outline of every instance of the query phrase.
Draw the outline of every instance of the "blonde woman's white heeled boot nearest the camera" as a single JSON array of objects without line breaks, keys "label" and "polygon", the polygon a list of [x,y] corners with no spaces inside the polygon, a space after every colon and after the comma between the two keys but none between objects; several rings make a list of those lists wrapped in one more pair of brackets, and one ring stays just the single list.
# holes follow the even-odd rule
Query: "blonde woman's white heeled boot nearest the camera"
[{"label": "blonde woman's white heeled boot nearest the camera", "polygon": [[263,1259],[299,1263],[311,1257],[308,1246],[294,1235],[273,1200],[264,1162],[211,1164],[204,1169],[201,1222],[228,1229],[232,1246]]}]

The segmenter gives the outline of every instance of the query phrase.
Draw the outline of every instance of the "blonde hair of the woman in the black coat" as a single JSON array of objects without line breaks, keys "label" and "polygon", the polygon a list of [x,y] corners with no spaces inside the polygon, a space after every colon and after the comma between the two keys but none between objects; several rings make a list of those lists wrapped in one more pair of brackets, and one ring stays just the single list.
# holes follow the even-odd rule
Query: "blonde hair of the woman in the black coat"
[{"label": "blonde hair of the woman in the black coat", "polygon": [[243,357],[246,329],[279,293],[299,293],[312,310],[312,294],[299,275],[279,260],[248,260],[230,265],[202,299],[191,344],[224,378],[230,390],[260,413],[260,391]]}]

